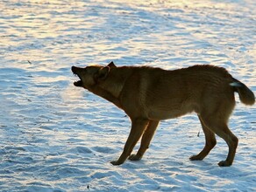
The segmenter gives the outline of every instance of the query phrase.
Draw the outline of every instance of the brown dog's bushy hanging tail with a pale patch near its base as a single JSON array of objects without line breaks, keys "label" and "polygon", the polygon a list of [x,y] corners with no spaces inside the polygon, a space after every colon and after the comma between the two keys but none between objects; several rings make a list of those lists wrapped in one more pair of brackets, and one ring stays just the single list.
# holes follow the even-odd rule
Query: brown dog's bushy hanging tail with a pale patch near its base
[{"label": "brown dog's bushy hanging tail with a pale patch near its base", "polygon": [[245,84],[233,78],[233,82],[230,85],[234,87],[234,91],[238,93],[242,103],[248,106],[252,106],[255,103],[254,94]]}]

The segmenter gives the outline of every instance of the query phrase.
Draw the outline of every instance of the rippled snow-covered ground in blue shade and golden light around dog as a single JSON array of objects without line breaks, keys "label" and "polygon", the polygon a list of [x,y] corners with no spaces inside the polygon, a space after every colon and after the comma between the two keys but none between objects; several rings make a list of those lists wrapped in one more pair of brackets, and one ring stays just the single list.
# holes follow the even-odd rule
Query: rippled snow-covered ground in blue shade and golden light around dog
[{"label": "rippled snow-covered ground in blue shade and golden light around dog", "polygon": [[70,71],[211,64],[256,93],[255,13],[254,0],[0,1],[0,191],[255,191],[256,105],[236,96],[230,168],[219,138],[188,160],[204,145],[195,114],[161,122],[142,161],[114,167],[130,121]]}]

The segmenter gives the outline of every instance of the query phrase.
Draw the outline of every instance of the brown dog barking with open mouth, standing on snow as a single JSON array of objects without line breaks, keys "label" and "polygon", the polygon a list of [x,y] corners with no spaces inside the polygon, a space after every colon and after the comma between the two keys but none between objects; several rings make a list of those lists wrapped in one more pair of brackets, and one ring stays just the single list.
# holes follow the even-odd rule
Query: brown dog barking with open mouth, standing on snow
[{"label": "brown dog barking with open mouth, standing on snow", "polygon": [[[245,84],[234,79],[222,67],[194,65],[167,71],[148,66],[89,65],[72,66],[80,80],[74,85],[107,99],[123,109],[132,121],[131,132],[123,153],[112,165],[120,165],[127,158],[139,161],[149,147],[160,120],[176,118],[186,113],[197,113],[205,135],[203,150],[190,157],[203,160],[215,147],[215,134],[229,147],[226,160],[220,167],[231,166],[238,146],[238,138],[227,123],[235,106],[234,93],[245,105],[253,105],[255,96]],[[142,138],[141,138],[142,137]],[[141,138],[137,154],[132,149]]]}]

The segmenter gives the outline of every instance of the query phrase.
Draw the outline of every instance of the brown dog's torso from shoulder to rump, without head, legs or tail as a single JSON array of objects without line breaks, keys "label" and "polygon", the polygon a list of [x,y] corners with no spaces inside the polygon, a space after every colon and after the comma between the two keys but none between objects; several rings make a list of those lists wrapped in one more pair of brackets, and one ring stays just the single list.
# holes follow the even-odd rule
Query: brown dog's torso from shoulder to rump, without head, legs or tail
[{"label": "brown dog's torso from shoulder to rump, without head, legs or tail", "polygon": [[[217,107],[229,115],[235,105],[232,77],[224,68],[195,65],[174,71],[150,67],[131,70],[121,97],[132,98],[129,109],[134,106],[147,118],[163,120]],[[138,111],[134,108],[132,113]]]}]

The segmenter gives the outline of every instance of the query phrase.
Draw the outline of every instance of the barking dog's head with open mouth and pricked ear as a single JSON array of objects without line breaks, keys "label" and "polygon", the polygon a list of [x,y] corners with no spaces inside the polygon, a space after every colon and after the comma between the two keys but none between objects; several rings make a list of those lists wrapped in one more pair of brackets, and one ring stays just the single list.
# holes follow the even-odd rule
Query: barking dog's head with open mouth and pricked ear
[{"label": "barking dog's head with open mouth and pricked ear", "polygon": [[72,66],[71,71],[79,77],[80,80],[74,82],[74,86],[81,86],[89,89],[97,83],[106,79],[110,68],[117,67],[112,61],[109,65],[90,65],[84,68]]}]

